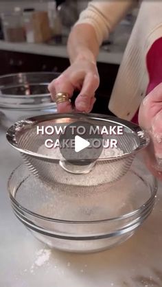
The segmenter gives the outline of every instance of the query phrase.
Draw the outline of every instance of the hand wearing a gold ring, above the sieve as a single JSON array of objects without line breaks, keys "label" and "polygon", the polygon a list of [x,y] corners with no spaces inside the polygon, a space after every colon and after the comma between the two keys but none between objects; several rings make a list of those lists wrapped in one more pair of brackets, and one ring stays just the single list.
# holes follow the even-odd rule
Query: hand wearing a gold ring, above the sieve
[{"label": "hand wearing a gold ring, above the sieve", "polygon": [[74,108],[69,101],[59,103],[58,113],[72,111],[89,113],[95,103],[95,91],[100,84],[95,62],[78,59],[66,69],[58,78],[49,84],[49,92],[53,100],[57,93],[68,93],[72,97],[74,91],[79,91]]}]

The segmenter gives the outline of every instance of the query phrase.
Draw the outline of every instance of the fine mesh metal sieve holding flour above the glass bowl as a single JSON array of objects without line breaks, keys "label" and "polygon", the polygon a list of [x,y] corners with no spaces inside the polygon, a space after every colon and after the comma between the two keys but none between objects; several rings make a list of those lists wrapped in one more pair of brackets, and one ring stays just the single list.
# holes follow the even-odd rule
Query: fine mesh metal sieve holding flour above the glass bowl
[{"label": "fine mesh metal sieve holding flour above the glass bowl", "polygon": [[[100,156],[96,155],[93,161],[90,161],[89,152],[87,152],[86,160],[80,159],[71,163],[62,157],[59,148],[45,148],[44,143],[50,138],[49,135],[36,134],[37,127],[67,127],[76,122],[89,123],[100,127],[100,130],[103,126],[106,126],[107,130],[113,126],[122,126],[123,135],[113,135],[120,152],[115,152],[113,148],[104,148]],[[102,137],[112,139],[112,135],[102,135]],[[57,138],[56,133],[52,135],[53,141]],[[148,134],[131,122],[106,115],[83,113],[40,115],[16,122],[9,128],[7,139],[21,152],[30,171],[45,183],[54,185],[58,182],[83,187],[120,179],[130,168],[135,154],[148,146],[150,141]]]}]

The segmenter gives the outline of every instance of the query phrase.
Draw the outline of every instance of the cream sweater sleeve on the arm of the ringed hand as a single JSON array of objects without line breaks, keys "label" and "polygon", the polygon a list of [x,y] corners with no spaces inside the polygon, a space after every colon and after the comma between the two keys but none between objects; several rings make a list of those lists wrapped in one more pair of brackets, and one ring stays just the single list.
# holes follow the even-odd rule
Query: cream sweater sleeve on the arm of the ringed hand
[{"label": "cream sweater sleeve on the arm of the ringed hand", "polygon": [[121,21],[128,10],[135,6],[135,0],[104,0],[89,2],[86,10],[82,11],[75,25],[88,23],[95,29],[97,41],[102,44],[115,25]]}]

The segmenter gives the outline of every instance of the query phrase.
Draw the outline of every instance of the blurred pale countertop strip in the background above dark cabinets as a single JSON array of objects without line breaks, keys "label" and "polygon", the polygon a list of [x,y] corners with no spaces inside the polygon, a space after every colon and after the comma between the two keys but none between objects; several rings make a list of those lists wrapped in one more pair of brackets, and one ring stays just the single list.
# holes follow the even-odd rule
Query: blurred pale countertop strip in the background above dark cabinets
[{"label": "blurred pale countertop strip in the background above dark cabinets", "polygon": [[[65,45],[10,43],[0,41],[0,50],[68,58]],[[108,50],[109,51],[104,51],[103,49],[100,49],[100,54],[97,59],[98,62],[119,65],[122,61],[124,48],[117,45],[110,45],[108,46]]]}]

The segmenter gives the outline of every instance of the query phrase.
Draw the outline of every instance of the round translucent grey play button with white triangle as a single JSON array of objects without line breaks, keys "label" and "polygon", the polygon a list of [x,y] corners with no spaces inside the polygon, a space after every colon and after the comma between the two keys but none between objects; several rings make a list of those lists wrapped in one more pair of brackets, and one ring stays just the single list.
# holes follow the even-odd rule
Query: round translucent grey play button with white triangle
[{"label": "round translucent grey play button with white triangle", "polygon": [[[73,116],[75,117],[75,113]],[[97,126],[86,121],[71,122],[67,125],[65,133],[59,135],[62,157],[69,163],[76,165],[84,165],[84,163],[89,165],[89,163],[96,161],[103,150],[102,135],[92,133],[92,130],[95,131],[96,128]]]}]

